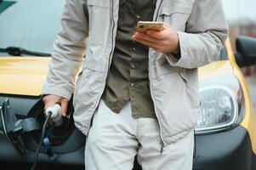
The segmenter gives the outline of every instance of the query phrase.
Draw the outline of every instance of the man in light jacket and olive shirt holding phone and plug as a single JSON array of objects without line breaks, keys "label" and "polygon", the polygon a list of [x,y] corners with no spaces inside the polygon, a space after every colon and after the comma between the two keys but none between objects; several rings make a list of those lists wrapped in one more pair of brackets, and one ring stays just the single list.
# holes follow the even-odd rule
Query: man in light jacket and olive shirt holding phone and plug
[{"label": "man in light jacket and olive shirt holding phone and plug", "polygon": [[[164,29],[136,32],[139,20]],[[83,62],[73,105],[86,169],[132,169],[136,155],[145,170],[192,169],[197,67],[227,37],[221,1],[67,0],[61,21],[43,102],[65,116]]]}]

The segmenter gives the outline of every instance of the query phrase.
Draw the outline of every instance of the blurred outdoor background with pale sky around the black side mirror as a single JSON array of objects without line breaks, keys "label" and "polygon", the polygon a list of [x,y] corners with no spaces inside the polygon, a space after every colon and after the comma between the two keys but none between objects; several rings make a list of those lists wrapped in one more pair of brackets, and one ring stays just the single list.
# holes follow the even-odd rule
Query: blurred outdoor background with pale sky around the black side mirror
[{"label": "blurred outdoor background with pale sky around the black side mirror", "polygon": [[[229,20],[230,41],[236,51],[236,37],[256,37],[256,1],[255,0],[222,0],[225,14]],[[248,82],[254,112],[256,113],[256,65],[243,68]]]}]

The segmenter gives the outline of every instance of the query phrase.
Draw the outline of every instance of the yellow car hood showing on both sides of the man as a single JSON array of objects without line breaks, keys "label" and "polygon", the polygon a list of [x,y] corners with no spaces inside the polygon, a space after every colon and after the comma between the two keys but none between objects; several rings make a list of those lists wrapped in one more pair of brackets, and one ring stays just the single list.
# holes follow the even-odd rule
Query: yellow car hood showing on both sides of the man
[{"label": "yellow car hood showing on both sides of the man", "polygon": [[[0,94],[40,96],[51,58],[1,57]],[[229,60],[216,61],[199,69],[199,79],[232,74]]]}]

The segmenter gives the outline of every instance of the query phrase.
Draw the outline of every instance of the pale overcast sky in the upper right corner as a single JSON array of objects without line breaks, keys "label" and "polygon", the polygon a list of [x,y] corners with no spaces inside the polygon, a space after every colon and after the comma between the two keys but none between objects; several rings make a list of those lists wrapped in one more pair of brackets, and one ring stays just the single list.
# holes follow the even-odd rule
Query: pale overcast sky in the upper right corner
[{"label": "pale overcast sky in the upper right corner", "polygon": [[256,24],[256,0],[222,0],[225,14],[231,23]]}]

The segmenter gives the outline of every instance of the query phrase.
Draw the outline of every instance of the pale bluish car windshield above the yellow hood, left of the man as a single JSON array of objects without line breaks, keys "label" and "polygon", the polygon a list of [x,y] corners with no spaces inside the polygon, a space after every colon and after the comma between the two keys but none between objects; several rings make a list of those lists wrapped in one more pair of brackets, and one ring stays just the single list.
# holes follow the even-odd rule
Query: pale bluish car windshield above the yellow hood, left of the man
[{"label": "pale bluish car windshield above the yellow hood, left of the man", "polygon": [[[64,5],[65,0],[0,0],[0,48],[50,54]],[[225,49],[219,55],[222,59],[227,59]]]}]

